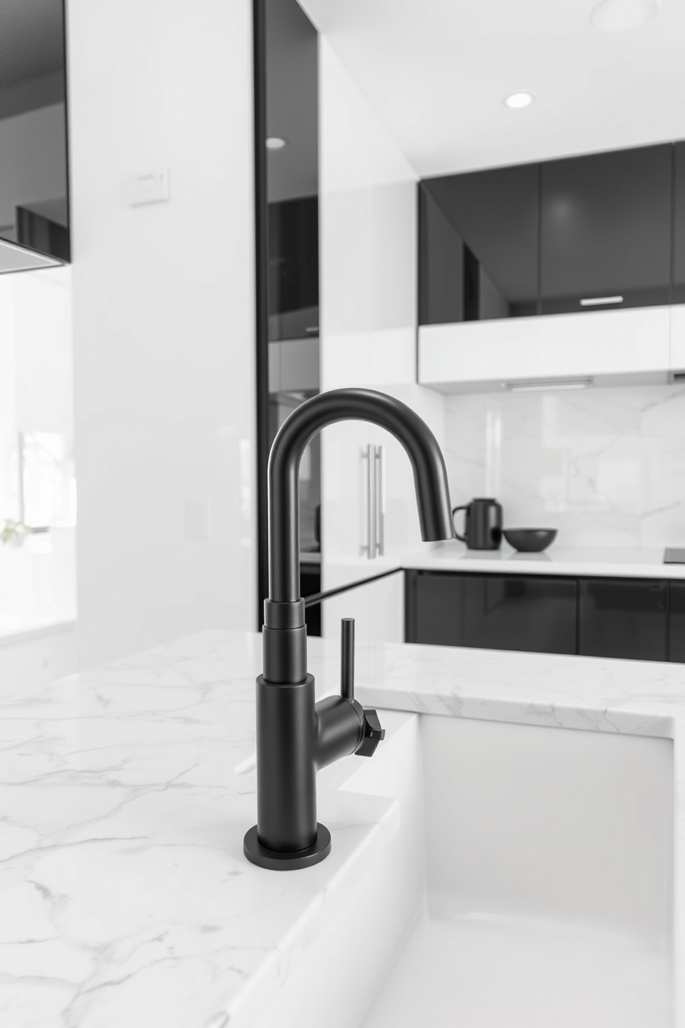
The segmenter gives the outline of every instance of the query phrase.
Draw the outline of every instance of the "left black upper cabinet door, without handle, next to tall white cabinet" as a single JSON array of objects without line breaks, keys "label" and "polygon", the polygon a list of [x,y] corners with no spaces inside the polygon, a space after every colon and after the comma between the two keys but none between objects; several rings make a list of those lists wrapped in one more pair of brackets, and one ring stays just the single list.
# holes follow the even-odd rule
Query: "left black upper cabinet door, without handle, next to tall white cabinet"
[{"label": "left black upper cabinet door, without handle, next to tall white cabinet", "polygon": [[538,166],[419,184],[421,325],[537,313]]}]

